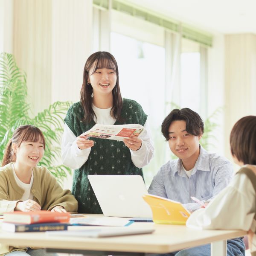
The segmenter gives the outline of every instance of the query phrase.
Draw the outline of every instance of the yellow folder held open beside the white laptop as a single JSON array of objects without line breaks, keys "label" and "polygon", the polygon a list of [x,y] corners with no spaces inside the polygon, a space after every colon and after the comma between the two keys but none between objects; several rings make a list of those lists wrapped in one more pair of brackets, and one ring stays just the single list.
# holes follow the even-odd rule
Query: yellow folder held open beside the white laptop
[{"label": "yellow folder held open beside the white laptop", "polygon": [[153,221],[157,224],[185,225],[190,212],[179,202],[146,194],[143,199],[149,204],[153,213]]}]

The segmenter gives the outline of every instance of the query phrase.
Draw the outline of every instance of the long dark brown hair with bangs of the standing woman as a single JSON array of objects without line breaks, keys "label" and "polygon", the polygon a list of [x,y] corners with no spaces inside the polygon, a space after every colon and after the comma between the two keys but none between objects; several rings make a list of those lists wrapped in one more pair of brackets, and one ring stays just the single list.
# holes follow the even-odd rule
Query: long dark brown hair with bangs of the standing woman
[{"label": "long dark brown hair with bangs of the standing woman", "polygon": [[119,87],[119,74],[116,59],[109,52],[95,52],[87,59],[84,65],[84,78],[80,91],[80,100],[84,110],[84,118],[82,122],[91,122],[96,116],[92,108],[93,87],[87,84],[89,78],[89,70],[93,67],[92,74],[99,68],[113,69],[116,73],[116,85],[112,90],[113,107],[111,108],[111,116],[121,121],[122,96]]}]

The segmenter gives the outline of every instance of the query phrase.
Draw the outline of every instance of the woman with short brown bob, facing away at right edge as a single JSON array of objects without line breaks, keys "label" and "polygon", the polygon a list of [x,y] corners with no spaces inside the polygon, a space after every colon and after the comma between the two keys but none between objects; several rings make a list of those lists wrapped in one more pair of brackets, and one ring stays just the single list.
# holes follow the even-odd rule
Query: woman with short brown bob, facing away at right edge
[{"label": "woman with short brown bob, facing away at right edge", "polygon": [[249,230],[251,255],[256,256],[256,116],[239,119],[230,134],[233,160],[241,168],[230,185],[186,225],[202,229]]}]

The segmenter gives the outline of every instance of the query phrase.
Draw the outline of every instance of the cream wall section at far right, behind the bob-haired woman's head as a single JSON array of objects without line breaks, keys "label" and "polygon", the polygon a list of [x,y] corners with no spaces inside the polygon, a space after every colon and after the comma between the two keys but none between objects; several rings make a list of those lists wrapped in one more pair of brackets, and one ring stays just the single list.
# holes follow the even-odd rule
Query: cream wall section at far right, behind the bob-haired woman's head
[{"label": "cream wall section at far right, behind the bob-haired woman's head", "polygon": [[256,35],[225,36],[225,152],[230,131],[241,117],[256,115]]}]

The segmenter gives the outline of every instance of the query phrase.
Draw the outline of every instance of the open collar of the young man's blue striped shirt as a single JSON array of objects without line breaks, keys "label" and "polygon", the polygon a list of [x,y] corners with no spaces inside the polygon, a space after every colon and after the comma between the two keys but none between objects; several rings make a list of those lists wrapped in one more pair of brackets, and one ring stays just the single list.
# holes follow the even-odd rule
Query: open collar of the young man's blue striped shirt
[{"label": "open collar of the young man's blue striped shirt", "polygon": [[[200,153],[198,156],[198,160],[195,163],[194,170],[192,172],[192,175],[198,170],[200,171],[205,171],[209,172],[209,154],[207,151],[201,146],[200,147]],[[171,169],[172,169],[172,177],[174,177],[175,173],[177,172],[178,175],[182,177],[187,177],[185,173],[183,173],[183,168],[182,168],[182,162],[181,159],[176,159],[176,160],[171,160],[170,161]]]}]

